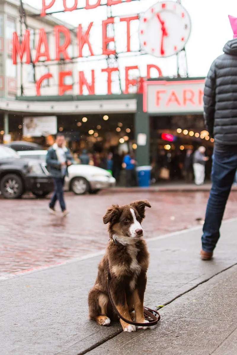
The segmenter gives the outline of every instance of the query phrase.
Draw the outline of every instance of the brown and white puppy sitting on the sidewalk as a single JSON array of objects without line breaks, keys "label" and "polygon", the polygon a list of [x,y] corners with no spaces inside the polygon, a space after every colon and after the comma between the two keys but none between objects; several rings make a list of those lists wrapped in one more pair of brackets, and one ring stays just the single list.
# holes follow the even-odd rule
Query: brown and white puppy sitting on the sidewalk
[{"label": "brown and white puppy sitting on the sidewalk", "polygon": [[[89,292],[89,318],[102,326],[108,326],[111,319],[117,319],[109,300],[107,288],[107,261],[111,273],[111,296],[119,313],[127,320],[147,323],[143,313],[146,272],[149,253],[142,239],[142,220],[145,207],[151,207],[147,200],[136,201],[124,206],[113,205],[103,217],[108,223],[109,244],[99,263],[95,285]],[[135,311],[135,317],[133,310]],[[135,319],[134,319],[135,318]],[[122,320],[124,332],[135,332],[136,327]],[[140,327],[148,328],[148,327]]]}]

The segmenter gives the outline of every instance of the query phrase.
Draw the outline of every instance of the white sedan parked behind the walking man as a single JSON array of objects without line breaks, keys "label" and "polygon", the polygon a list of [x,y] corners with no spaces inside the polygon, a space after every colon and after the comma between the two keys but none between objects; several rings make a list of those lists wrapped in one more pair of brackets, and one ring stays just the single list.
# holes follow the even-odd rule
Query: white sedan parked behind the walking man
[{"label": "white sedan parked behind the walking man", "polygon": [[[46,167],[47,151],[21,151],[20,157],[41,160],[42,168],[49,174]],[[96,193],[101,189],[114,187],[116,180],[104,169],[92,165],[73,164],[68,167],[68,176],[65,178],[64,189],[73,191],[76,195],[83,195],[86,192]]]}]

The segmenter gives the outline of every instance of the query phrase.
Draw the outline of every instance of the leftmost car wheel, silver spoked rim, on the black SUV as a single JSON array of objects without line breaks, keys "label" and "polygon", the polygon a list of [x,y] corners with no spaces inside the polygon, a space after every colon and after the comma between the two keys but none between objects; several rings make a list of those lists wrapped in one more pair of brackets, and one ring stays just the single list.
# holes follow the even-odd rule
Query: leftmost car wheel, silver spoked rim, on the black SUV
[{"label": "leftmost car wheel, silver spoked rim, on the black SUV", "polygon": [[5,198],[18,198],[23,193],[21,178],[15,174],[7,174],[1,179],[0,190]]}]

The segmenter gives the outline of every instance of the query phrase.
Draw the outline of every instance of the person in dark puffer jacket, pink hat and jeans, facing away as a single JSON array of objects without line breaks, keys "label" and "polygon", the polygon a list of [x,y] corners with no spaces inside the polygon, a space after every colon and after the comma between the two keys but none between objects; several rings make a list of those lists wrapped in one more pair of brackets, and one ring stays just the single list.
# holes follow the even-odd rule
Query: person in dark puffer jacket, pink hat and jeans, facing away
[{"label": "person in dark puffer jacket, pink hat and jeans, facing away", "polygon": [[215,138],[212,187],[203,226],[201,258],[210,260],[237,168],[237,18],[229,16],[234,33],[212,63],[204,88],[204,119]]}]

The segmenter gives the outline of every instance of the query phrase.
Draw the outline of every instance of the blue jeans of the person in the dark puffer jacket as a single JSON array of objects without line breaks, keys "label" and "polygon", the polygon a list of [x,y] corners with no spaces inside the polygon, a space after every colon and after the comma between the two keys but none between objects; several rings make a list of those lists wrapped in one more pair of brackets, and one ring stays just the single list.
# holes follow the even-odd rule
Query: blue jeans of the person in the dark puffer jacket
[{"label": "blue jeans of the person in the dark puffer jacket", "polygon": [[204,251],[212,252],[220,237],[220,226],[237,169],[237,149],[214,150],[211,180],[212,187],[206,207],[201,238]]}]

